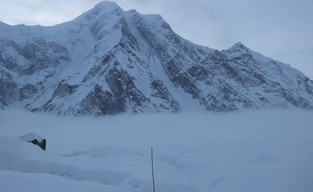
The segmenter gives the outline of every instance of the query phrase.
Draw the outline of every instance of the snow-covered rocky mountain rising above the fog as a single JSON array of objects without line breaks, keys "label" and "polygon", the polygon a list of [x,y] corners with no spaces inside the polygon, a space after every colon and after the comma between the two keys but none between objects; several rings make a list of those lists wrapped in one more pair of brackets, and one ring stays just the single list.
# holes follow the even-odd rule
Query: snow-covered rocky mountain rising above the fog
[{"label": "snow-covered rocky mountain rising above the fog", "polygon": [[313,81],[289,65],[110,2],[51,27],[0,22],[0,87],[0,108],[57,115],[313,109]]}]

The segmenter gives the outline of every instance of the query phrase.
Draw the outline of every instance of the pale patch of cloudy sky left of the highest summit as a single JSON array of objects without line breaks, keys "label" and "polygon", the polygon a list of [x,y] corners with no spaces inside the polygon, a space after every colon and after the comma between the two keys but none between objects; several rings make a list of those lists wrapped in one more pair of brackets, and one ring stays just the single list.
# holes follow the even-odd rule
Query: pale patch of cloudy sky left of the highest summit
[{"label": "pale patch of cloudy sky left of the highest summit", "polygon": [[99,1],[47,1],[47,0],[16,0],[2,1],[1,20],[5,23],[26,25],[56,25],[74,19],[91,9]]}]

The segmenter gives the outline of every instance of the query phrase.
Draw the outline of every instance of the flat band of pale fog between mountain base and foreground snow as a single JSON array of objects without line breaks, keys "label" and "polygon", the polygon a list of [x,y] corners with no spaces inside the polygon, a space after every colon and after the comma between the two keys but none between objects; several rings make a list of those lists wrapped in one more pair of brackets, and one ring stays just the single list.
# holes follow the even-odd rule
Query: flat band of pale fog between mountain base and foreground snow
[{"label": "flat band of pale fog between mountain base and foreground snow", "polygon": [[[97,145],[147,147],[208,141],[305,140],[313,139],[311,117],[312,111],[303,110],[124,114],[99,118],[56,117],[4,110],[0,111],[0,135],[21,136],[35,132],[48,142],[70,139],[71,145],[67,149],[50,147],[51,151],[64,153],[78,150],[76,146],[81,143],[85,149],[80,150]],[[72,138],[68,138],[69,135]]]}]

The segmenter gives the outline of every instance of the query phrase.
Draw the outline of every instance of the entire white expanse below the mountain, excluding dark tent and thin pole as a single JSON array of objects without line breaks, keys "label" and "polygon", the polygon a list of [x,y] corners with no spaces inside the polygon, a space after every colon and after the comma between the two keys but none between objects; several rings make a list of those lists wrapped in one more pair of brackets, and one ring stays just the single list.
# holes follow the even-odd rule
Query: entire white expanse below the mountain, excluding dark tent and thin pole
[{"label": "entire white expanse below the mountain, excluding dark tent and thin pole", "polygon": [[[2,191],[312,191],[311,111],[0,112]],[[20,140],[44,137],[47,151]],[[19,183],[17,185],[16,183]]]}]

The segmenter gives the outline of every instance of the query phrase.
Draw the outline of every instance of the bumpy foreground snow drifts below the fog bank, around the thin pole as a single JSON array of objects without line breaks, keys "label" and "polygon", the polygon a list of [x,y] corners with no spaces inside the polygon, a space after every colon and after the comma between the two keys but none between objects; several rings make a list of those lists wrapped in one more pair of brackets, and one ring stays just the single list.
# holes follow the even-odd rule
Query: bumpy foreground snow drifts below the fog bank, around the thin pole
[{"label": "bumpy foreground snow drifts below the fog bank, around the thin pole", "polygon": [[[217,141],[153,149],[156,191],[313,189],[312,140]],[[98,146],[54,155],[32,143],[1,136],[0,154],[4,191],[153,190],[149,147]]]}]

